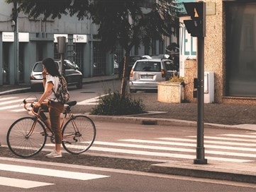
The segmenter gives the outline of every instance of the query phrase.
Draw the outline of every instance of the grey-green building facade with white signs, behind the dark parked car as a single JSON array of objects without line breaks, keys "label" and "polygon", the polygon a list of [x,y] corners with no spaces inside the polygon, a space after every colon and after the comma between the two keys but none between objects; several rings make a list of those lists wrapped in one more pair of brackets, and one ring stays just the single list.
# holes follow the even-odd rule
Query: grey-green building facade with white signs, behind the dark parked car
[{"label": "grey-green building facade with white signs, behind the dark parked car", "polygon": [[[115,67],[124,56],[123,49],[117,47],[113,54],[104,52],[95,38],[98,28],[90,19],[62,16],[43,20],[43,16],[34,19],[18,13],[14,22],[12,9],[13,4],[0,1],[0,85],[29,83],[36,61],[45,57],[60,59],[57,37],[66,37],[65,59],[74,61],[85,78],[117,73]],[[130,55],[165,54],[171,39],[165,37],[148,46],[133,47]]]}]

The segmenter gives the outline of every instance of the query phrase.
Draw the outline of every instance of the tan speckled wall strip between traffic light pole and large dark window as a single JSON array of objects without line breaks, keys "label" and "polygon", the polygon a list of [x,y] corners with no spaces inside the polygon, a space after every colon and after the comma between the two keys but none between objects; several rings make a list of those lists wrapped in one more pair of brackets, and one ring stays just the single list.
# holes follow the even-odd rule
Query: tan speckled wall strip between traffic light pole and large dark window
[{"label": "tan speckled wall strip between traffic light pole and large dark window", "polygon": [[[214,71],[215,102],[221,103],[224,85],[225,62],[225,23],[222,1],[210,1],[215,4],[215,14],[207,13],[206,9],[206,37],[204,44],[204,71]],[[207,6],[206,6],[207,7]]]}]

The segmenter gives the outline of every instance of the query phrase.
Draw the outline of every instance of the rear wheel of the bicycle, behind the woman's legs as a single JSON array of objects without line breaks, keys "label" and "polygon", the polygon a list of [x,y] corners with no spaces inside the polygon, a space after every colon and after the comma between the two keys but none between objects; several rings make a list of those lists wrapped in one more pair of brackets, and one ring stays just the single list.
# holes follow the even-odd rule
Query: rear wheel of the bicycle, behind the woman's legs
[{"label": "rear wheel of the bicycle, behind the woman's legs", "polygon": [[67,152],[79,154],[89,150],[96,137],[94,122],[87,116],[74,116],[62,129],[62,146]]}]

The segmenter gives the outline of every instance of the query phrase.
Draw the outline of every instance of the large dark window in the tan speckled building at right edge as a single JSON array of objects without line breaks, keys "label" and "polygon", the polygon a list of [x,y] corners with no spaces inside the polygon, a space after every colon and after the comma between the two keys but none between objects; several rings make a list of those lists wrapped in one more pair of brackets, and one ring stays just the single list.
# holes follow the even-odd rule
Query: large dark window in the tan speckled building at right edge
[{"label": "large dark window in the tan speckled building at right edge", "polygon": [[256,3],[226,3],[226,95],[256,97]]}]

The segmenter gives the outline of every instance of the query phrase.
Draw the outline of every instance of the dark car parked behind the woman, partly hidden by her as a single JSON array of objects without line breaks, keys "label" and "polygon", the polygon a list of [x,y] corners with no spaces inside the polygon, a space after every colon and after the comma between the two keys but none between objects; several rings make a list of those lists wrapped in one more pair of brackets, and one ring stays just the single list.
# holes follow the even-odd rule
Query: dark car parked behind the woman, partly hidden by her
[{"label": "dark car parked behind the woman, partly hidden by her", "polygon": [[[57,68],[60,69],[60,61],[55,61]],[[69,60],[64,60],[64,76],[68,85],[77,85],[78,89],[82,89],[82,73],[72,65]],[[36,88],[43,88],[43,64],[42,61],[38,61],[34,64],[30,75],[30,88],[35,90]]]}]

